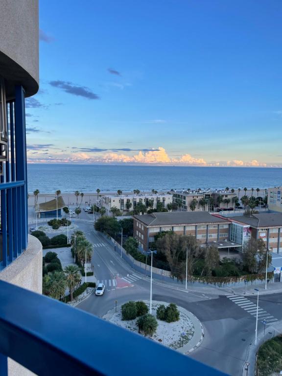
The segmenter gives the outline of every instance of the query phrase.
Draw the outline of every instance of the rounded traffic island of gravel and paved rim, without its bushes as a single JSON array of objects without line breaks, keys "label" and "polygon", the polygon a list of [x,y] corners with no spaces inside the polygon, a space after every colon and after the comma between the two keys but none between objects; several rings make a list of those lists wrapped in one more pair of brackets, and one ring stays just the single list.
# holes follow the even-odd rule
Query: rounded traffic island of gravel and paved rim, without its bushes
[{"label": "rounded traffic island of gravel and paved rim, without its bushes", "polygon": [[[150,302],[144,301],[149,307]],[[157,318],[157,309],[161,305],[168,306],[166,302],[152,301],[152,315],[156,318],[158,326],[152,335],[147,335],[148,339],[158,342],[164,346],[174,349],[183,354],[187,354],[200,346],[204,330],[200,321],[188,310],[177,306],[179,310],[179,320],[166,322]],[[122,320],[121,305],[111,309],[103,318],[124,329],[139,333],[138,317],[132,320]],[[140,333],[140,335],[143,335]]]}]

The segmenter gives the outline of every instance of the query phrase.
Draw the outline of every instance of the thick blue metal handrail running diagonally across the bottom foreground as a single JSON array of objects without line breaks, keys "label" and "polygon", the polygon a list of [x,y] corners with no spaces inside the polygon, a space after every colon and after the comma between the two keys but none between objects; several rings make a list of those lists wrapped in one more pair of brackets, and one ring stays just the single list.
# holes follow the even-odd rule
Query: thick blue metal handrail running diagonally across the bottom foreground
[{"label": "thick blue metal handrail running diagonally across the bottom foreground", "polygon": [[0,375],[7,356],[42,376],[225,375],[89,313],[0,281]]}]

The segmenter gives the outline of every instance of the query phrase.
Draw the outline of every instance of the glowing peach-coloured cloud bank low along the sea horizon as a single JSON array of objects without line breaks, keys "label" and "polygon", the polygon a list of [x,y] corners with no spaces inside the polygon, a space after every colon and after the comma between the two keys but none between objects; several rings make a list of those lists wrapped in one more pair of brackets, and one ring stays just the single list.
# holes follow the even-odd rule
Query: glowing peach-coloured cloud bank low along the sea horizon
[{"label": "glowing peach-coloured cloud bank low along the sea horizon", "polygon": [[[184,154],[177,158],[171,158],[164,147],[140,149],[137,154],[126,155],[119,152],[106,152],[85,148],[75,148],[75,154],[70,155],[65,150],[52,151],[51,145],[28,145],[28,163],[66,163],[66,164],[148,164],[148,165],[180,165],[180,166],[228,166],[228,167],[280,167],[278,165],[270,165],[257,160],[251,161],[206,161],[203,158],[194,158],[190,154]],[[30,150],[43,150],[49,147],[50,154],[47,156],[33,157]],[[88,151],[89,150],[89,151]],[[103,150],[103,149],[98,149]],[[116,149],[104,149],[116,150]],[[120,149],[125,151],[134,151],[134,149]],[[44,150],[46,151],[46,150]],[[93,153],[95,153],[93,155]],[[97,153],[100,153],[97,155]],[[42,153],[44,154],[44,153]],[[46,154],[46,153],[45,153]]]}]

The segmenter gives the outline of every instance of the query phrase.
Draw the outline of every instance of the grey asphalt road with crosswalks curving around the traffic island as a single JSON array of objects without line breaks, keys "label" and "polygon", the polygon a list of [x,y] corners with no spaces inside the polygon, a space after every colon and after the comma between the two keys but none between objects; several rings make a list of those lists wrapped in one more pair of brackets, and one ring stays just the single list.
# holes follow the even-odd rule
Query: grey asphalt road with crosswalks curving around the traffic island
[{"label": "grey asphalt road with crosswalks curving around the traffic island", "polygon": [[[94,275],[105,283],[106,290],[104,296],[91,295],[77,308],[102,317],[115,307],[116,300],[121,305],[128,300],[149,299],[149,279],[145,280],[142,274],[133,270],[118,252],[114,252],[114,247],[94,230],[93,214],[83,211],[79,217],[74,219],[74,223],[94,245]],[[220,293],[220,290],[212,291],[205,285],[185,291],[160,281],[153,283],[153,300],[176,303],[191,311],[202,322],[204,340],[189,356],[229,375],[238,376],[241,375],[249,345],[255,338],[256,317]],[[256,304],[255,294],[247,298],[250,304]],[[262,312],[282,320],[282,294],[260,296],[259,307]],[[263,332],[263,328],[261,318],[258,333]],[[267,331],[273,330],[269,324]]]}]

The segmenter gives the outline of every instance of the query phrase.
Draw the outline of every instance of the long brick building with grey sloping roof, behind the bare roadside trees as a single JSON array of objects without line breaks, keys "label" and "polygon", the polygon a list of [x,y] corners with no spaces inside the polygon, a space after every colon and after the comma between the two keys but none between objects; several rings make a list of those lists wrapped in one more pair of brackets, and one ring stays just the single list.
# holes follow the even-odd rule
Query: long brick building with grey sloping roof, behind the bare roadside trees
[{"label": "long brick building with grey sloping roof, behind the bare roadside trees", "polygon": [[240,244],[229,241],[230,225],[229,219],[212,215],[207,211],[174,211],[133,216],[134,236],[145,251],[150,249],[154,236],[163,231],[193,235],[202,245],[212,244],[219,249],[236,249]]}]

